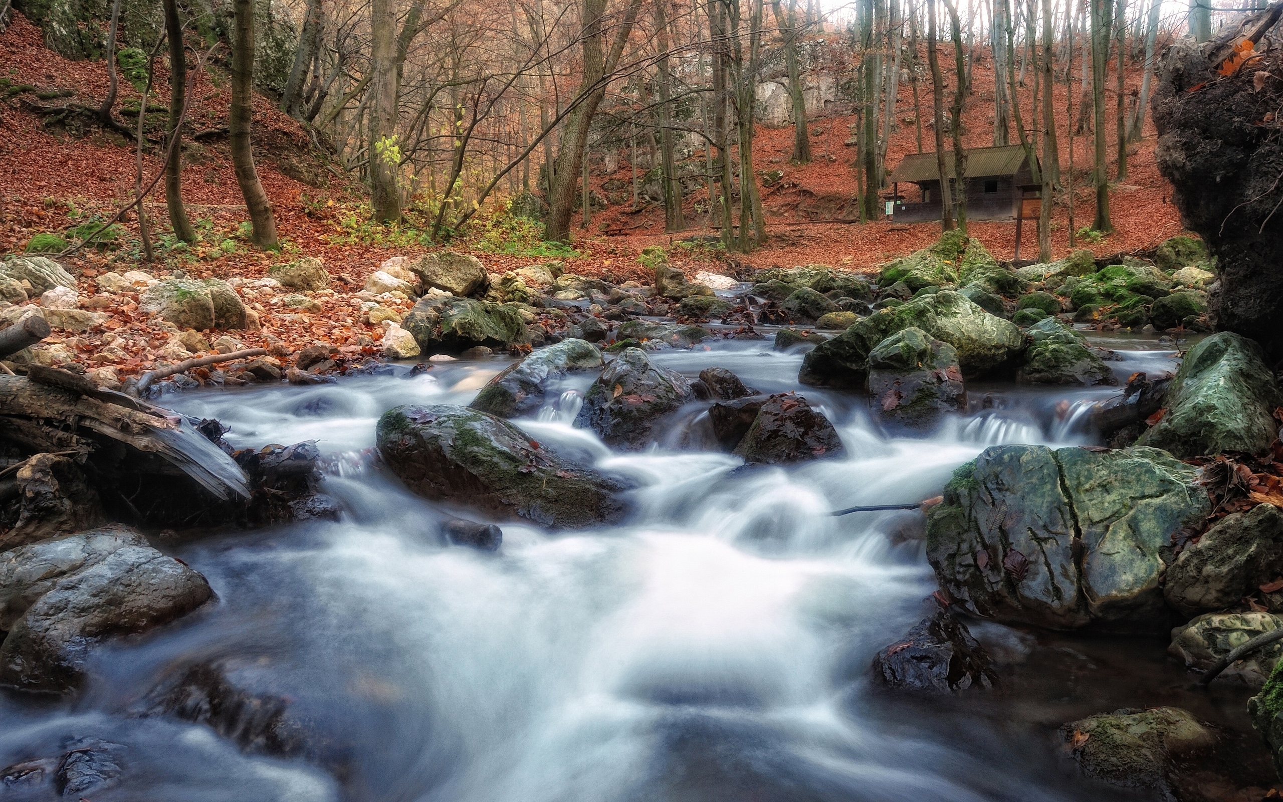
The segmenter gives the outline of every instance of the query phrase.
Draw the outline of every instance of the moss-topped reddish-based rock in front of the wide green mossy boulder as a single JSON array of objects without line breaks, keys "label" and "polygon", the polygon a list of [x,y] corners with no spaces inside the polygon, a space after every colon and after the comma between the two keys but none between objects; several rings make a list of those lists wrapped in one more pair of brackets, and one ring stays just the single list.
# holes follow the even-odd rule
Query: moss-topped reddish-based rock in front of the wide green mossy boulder
[{"label": "moss-topped reddish-based rock in front of the wide green mossy boulder", "polygon": [[953,346],[913,327],[897,331],[869,353],[867,390],[883,422],[911,429],[930,429],[944,413],[966,408]]}]

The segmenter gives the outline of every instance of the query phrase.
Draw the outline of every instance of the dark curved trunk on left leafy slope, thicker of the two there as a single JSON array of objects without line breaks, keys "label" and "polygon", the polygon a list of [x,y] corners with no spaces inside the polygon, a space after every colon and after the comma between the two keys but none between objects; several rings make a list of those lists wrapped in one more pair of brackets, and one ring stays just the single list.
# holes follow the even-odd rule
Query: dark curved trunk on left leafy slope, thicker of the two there
[{"label": "dark curved trunk on left leafy slope, thicker of the two there", "polygon": [[228,141],[232,150],[232,164],[236,168],[236,183],[240,185],[254,225],[254,244],[260,248],[276,248],[276,219],[272,217],[272,204],[267,200],[263,183],[254,169],[254,150],[250,144],[250,128],[254,123],[254,3],[253,0],[232,0],[232,103],[227,114]]}]

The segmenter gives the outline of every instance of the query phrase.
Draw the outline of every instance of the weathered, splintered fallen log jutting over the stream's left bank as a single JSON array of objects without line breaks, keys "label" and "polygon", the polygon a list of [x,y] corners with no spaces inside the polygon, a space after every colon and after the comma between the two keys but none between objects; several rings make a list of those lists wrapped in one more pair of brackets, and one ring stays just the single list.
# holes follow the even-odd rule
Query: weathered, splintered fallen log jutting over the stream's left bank
[{"label": "weathered, splintered fallen log jutting over the stream's left bank", "polygon": [[110,390],[68,389],[72,379],[44,379],[0,376],[0,438],[37,452],[90,454],[123,445],[186,474],[219,499],[250,497],[240,466],[182,416]]}]

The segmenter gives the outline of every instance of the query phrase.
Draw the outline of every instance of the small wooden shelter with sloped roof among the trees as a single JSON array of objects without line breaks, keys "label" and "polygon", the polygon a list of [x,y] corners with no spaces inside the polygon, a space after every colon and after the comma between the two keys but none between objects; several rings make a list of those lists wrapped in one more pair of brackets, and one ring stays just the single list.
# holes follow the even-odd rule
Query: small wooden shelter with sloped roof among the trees
[{"label": "small wooden shelter with sloped roof among the trees", "polygon": [[[944,172],[953,175],[952,150],[944,154]],[[897,223],[940,219],[940,176],[934,150],[908,154],[887,180],[894,201],[890,217]],[[967,150],[965,180],[967,219],[1016,219],[1020,201],[1037,195],[1041,189],[1034,183],[1029,159],[1020,145]],[[899,194],[901,183],[916,183],[920,198],[912,201],[905,199]]]}]

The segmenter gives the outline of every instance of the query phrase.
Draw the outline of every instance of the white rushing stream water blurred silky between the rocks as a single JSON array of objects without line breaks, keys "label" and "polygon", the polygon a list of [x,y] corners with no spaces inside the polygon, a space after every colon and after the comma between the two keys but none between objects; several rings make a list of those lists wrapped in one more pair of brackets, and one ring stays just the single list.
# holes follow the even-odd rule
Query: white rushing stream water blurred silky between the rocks
[{"label": "white rushing stream water blurred silky between the rocks", "polygon": [[[1170,350],[1123,357],[1124,381],[1174,366]],[[654,358],[688,375],[727,367],[762,391],[798,389],[801,357],[770,341]],[[1180,693],[1162,643],[998,625],[976,634],[1012,678],[1007,690],[929,702],[878,693],[869,661],[924,615],[935,586],[920,516],[826,515],[935,495],[988,445],[1089,443],[1084,405],[1116,390],[969,388],[969,414],[910,439],[881,432],[853,394],[806,388],[845,458],[735,471],[738,458],[701,450],[699,404],[645,453],[574,429],[591,376],[574,377],[517,423],[636,480],[631,517],[574,534],[503,522],[498,553],[443,548],[435,521],[470,513],[372,467],[375,421],[402,403],[467,403],[506,363],[171,397],[230,425],[236,445],[317,440],[325,490],[345,515],[157,538],[218,602],[99,649],[77,699],[5,697],[0,765],[56,755],[72,737],[124,744],[128,781],[92,802],[1112,798],[1057,756],[1055,726]],[[159,678],[212,660],[323,733],[312,760],[244,755],[208,728],[137,715]],[[1096,674],[1107,679],[1093,685]],[[1242,702],[1209,698],[1198,712],[1221,720]]]}]

